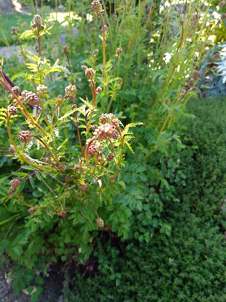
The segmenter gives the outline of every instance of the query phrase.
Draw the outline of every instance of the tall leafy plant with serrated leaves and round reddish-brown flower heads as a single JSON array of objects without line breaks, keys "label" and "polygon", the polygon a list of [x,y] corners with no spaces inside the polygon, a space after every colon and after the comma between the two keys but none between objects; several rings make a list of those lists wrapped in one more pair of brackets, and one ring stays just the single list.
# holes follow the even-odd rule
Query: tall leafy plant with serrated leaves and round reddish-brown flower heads
[{"label": "tall leafy plant with serrated leaves and round reddish-brown flower heads", "polygon": [[[102,261],[99,269],[119,284],[111,257],[104,262],[102,247],[94,243],[103,221],[102,230],[121,241],[136,238],[148,243],[157,230],[170,235],[170,224],[162,213],[168,203],[179,201],[175,184],[183,184],[186,177],[180,168],[184,146],[179,118],[187,101],[203,86],[208,88],[219,58],[213,53],[201,69],[202,58],[214,43],[211,36],[224,21],[222,4],[216,8],[216,3],[205,5],[202,1],[169,6],[161,1],[114,1],[108,5],[103,1],[104,11],[96,10],[95,14],[89,1],[76,3],[68,1],[76,17],[68,12],[62,24],[56,21],[53,28],[48,22],[35,27],[37,20],[25,33],[14,28],[18,41],[36,38],[37,52],[27,52],[22,43],[28,69],[6,61],[2,65],[1,81],[9,93],[1,101],[2,126],[6,120],[8,127],[0,130],[1,151],[7,154],[1,160],[5,189],[0,224],[2,251],[18,265],[17,291],[33,280],[34,270],[29,270],[26,279],[21,265],[45,272],[57,260],[65,266],[74,261],[84,264],[93,249]],[[92,5],[94,11],[101,7],[98,1]],[[215,10],[221,13],[219,19],[212,15]],[[44,8],[42,13],[45,16]],[[22,96],[15,98],[4,78],[22,87]],[[33,111],[27,104],[30,100]],[[19,115],[11,114],[18,110],[10,108],[12,104],[20,109]],[[15,124],[9,124],[12,120]],[[123,129],[120,121],[128,127]],[[135,155],[130,155],[132,134],[126,131],[138,121],[145,125],[134,129]],[[90,131],[91,125],[97,129]],[[103,144],[101,135],[108,136],[108,132]],[[8,134],[16,152],[10,150],[28,165],[20,167],[16,157],[5,152]],[[126,144],[127,151],[121,151]],[[12,174],[17,181],[9,190]],[[111,246],[104,251],[114,259],[118,255]],[[42,282],[38,280],[35,282]]]}]

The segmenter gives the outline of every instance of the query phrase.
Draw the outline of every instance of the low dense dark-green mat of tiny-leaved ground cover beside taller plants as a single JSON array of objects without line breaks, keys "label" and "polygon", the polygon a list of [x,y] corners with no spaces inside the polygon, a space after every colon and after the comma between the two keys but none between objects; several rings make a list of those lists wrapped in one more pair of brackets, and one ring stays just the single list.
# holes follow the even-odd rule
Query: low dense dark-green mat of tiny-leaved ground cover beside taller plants
[{"label": "low dense dark-green mat of tiny-leaved ground cover beside taller plants", "polygon": [[101,274],[86,280],[76,275],[66,301],[226,301],[226,103],[198,100],[188,109],[197,117],[186,121],[181,202],[165,212],[171,236],[155,234],[149,243],[130,245],[117,258],[118,287]]}]

